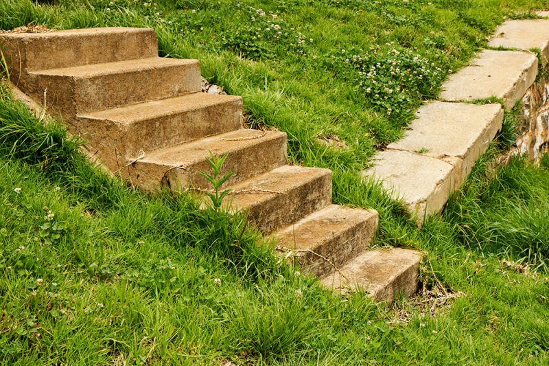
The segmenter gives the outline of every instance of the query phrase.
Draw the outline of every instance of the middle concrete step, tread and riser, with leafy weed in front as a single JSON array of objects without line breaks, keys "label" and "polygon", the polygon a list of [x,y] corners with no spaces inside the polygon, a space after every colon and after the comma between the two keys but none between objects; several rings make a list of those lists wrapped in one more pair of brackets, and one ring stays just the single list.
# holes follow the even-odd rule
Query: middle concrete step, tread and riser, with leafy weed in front
[{"label": "middle concrete step, tread and riser, with leafy weed in front", "polygon": [[228,154],[222,174],[235,172],[225,183],[229,185],[283,165],[286,141],[286,134],[279,131],[235,130],[156,150],[128,166],[125,174],[145,190],[161,184],[174,190],[208,190],[211,183],[200,170],[211,172],[210,152],[217,157]]}]

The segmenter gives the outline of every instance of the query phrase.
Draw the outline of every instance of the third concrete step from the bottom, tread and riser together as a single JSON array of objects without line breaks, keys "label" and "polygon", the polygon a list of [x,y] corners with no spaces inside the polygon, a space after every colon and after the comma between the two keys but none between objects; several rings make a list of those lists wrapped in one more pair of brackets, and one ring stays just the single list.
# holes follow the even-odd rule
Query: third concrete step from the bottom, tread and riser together
[{"label": "third concrete step from the bottom, tread and riser together", "polygon": [[250,221],[270,233],[331,203],[331,171],[283,165],[229,188],[231,209],[248,211]]}]

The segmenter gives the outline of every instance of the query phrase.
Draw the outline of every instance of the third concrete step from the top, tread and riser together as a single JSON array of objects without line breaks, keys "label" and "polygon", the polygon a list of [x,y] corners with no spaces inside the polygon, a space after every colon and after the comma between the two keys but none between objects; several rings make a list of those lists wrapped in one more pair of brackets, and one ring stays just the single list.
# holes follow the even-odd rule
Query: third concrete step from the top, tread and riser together
[{"label": "third concrete step from the top, tread and riser together", "polygon": [[78,115],[77,124],[103,163],[116,170],[141,151],[242,128],[242,98],[192,93]]}]

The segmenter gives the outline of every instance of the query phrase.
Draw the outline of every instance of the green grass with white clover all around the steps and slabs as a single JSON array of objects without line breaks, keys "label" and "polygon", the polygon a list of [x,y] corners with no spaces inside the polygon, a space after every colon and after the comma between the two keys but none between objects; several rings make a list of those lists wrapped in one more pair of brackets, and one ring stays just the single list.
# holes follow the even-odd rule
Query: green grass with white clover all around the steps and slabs
[{"label": "green grass with white clover all around the steps and slabs", "polygon": [[424,287],[394,306],[325,291],[244,218],[108,178],[2,86],[3,363],[549,363],[549,157],[487,169],[513,114],[422,229],[359,176],[503,16],[547,1],[51,2],[4,0],[0,27],[154,27],[250,124],[288,132],[290,159],[334,170],[334,201],[378,209],[377,244],[425,251]]}]

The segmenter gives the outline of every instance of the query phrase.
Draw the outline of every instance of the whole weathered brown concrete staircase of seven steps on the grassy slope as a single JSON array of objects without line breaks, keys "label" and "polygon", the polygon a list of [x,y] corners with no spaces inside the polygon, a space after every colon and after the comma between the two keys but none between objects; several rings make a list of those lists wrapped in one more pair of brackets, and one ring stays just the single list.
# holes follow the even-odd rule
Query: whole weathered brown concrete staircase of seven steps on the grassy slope
[{"label": "whole weathered brown concrete staircase of seven steps on the grassy slope", "polygon": [[209,152],[229,154],[232,209],[323,284],[387,301],[414,293],[419,253],[368,250],[377,211],[331,204],[329,170],[286,165],[285,133],[244,129],[242,98],[201,93],[198,60],[159,58],[156,42],[138,28],[0,34],[12,83],[113,172],[145,190],[207,190]]}]

